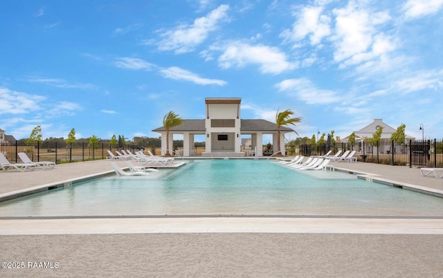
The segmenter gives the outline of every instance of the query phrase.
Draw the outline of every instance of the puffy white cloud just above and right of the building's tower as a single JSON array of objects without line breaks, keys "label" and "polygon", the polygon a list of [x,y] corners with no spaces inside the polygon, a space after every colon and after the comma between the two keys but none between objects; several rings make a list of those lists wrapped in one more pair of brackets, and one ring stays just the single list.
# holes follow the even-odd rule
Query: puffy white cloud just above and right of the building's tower
[{"label": "puffy white cloud just above and right of the building's tower", "polygon": [[[217,47],[213,47],[217,49]],[[296,68],[296,65],[287,60],[287,56],[280,49],[261,44],[253,46],[242,41],[230,41],[226,46],[218,48],[223,53],[218,62],[221,68],[237,66],[242,68],[248,64],[258,65],[262,73],[278,74]]]}]

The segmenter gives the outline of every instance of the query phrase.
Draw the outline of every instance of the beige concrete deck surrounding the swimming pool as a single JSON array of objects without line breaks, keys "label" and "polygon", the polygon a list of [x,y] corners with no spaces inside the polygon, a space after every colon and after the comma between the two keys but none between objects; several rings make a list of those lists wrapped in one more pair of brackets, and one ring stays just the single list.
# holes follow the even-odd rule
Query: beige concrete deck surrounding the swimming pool
[{"label": "beige concrete deck surrounding the swimming pool", "polygon": [[[0,194],[107,173],[110,163],[1,172]],[[334,166],[443,190],[419,169]],[[2,262],[26,266],[2,266],[1,277],[442,277],[443,218],[0,219],[0,246]]]}]

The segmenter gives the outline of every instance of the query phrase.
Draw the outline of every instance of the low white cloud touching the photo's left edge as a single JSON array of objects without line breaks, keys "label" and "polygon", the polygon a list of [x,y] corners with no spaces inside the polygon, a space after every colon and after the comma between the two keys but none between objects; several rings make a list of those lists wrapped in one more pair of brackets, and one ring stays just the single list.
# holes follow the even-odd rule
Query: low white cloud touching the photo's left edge
[{"label": "low white cloud touching the photo's left edge", "polygon": [[39,102],[45,99],[41,95],[30,95],[0,87],[0,115],[38,111],[41,109]]}]

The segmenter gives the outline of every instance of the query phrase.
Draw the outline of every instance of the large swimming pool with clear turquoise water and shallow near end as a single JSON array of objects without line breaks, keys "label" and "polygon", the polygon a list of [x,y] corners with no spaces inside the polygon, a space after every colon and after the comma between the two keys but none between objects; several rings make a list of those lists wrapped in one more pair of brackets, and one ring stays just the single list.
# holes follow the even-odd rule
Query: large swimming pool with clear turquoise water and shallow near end
[{"label": "large swimming pool with clear turquoise water and shallow near end", "polygon": [[3,217],[166,214],[443,216],[443,199],[341,172],[214,159],[147,177],[97,178],[0,203]]}]

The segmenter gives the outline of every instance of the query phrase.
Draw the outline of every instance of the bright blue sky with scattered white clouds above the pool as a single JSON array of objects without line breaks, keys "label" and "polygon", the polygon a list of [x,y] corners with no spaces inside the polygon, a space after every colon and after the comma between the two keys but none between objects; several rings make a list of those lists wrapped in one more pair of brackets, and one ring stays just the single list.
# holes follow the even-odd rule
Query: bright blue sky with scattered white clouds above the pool
[{"label": "bright blue sky with scattered white clouds above the pool", "polygon": [[[0,129],[159,136],[168,111],[242,98],[242,118],[344,138],[381,118],[442,138],[443,0],[0,1]],[[296,138],[295,134],[289,138]]]}]

